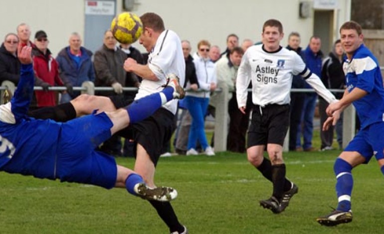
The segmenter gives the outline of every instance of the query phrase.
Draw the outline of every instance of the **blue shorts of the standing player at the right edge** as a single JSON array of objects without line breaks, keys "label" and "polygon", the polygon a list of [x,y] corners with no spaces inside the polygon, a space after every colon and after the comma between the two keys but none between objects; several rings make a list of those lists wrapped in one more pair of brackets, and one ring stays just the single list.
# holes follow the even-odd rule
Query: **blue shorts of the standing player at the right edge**
[{"label": "blue shorts of the standing player at the right edge", "polygon": [[372,156],[376,159],[383,159],[384,154],[384,122],[373,123],[364,129],[359,130],[356,136],[347,145],[344,151],[357,151],[368,163]]}]

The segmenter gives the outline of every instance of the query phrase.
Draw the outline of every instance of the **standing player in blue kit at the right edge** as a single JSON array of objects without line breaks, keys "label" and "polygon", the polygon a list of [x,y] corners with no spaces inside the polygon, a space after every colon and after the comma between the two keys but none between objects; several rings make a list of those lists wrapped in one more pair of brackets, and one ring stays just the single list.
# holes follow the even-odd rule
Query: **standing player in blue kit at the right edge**
[{"label": "standing player in blue kit at the right edge", "polygon": [[368,163],[375,155],[384,174],[384,89],[380,66],[363,44],[362,27],[357,22],[345,22],[340,28],[340,35],[347,54],[343,65],[347,89],[340,102],[328,106],[330,117],[323,128],[335,125],[340,112],[352,103],[361,121],[361,129],[335,161],[338,206],[331,214],[317,219],[319,224],[325,226],[352,221],[352,168]]}]

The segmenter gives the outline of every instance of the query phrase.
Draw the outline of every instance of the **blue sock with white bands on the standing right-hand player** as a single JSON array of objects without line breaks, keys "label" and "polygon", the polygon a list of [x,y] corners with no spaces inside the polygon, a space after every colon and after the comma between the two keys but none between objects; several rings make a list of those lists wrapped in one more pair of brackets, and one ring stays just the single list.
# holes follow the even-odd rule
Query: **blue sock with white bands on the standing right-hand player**
[{"label": "blue sock with white bands on the standing right-hand player", "polygon": [[336,175],[336,194],[338,206],[336,210],[351,210],[351,195],[353,188],[352,166],[345,160],[337,158],[334,165]]}]

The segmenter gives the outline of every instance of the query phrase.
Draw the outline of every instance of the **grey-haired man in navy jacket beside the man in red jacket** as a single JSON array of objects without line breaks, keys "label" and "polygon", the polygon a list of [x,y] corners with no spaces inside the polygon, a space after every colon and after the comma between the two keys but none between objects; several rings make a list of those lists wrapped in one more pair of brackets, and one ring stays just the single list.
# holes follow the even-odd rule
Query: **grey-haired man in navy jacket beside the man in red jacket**
[{"label": "grey-haired man in navy jacket beside the man in red jacket", "polygon": [[[95,81],[95,70],[91,61],[92,52],[81,46],[81,37],[73,32],[69,37],[69,46],[57,55],[59,75],[64,84],[80,87],[84,81]],[[80,95],[79,91],[68,92],[61,97],[60,103],[67,103]]]}]

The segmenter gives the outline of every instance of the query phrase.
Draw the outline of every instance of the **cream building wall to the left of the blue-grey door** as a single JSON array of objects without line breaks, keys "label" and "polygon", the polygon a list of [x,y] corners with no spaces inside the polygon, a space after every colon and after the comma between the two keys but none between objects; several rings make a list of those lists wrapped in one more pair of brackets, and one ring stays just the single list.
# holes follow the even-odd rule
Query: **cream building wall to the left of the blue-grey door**
[{"label": "cream building wall to the left of the blue-grey door", "polygon": [[31,27],[31,41],[38,30],[44,30],[49,39],[48,48],[56,54],[68,45],[69,35],[84,31],[83,0],[1,0],[0,42],[8,32],[16,33],[19,23]]}]

